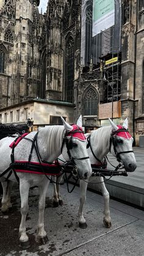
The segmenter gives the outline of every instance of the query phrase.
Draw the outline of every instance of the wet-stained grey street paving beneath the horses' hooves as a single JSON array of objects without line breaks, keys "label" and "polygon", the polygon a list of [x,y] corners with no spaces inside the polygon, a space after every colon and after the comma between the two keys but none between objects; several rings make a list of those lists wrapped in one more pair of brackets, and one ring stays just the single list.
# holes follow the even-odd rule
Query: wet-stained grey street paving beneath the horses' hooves
[{"label": "wet-stained grey street paving beneath the horses' hooves", "polygon": [[[71,187],[71,186],[70,186]],[[27,234],[31,247],[21,250],[18,239],[20,225],[20,196],[18,185],[12,192],[13,208],[7,215],[0,215],[0,244],[2,256],[11,255],[144,255],[144,213],[142,210],[110,200],[112,227],[103,225],[103,197],[87,191],[84,216],[87,229],[79,229],[77,211],[79,188],[68,194],[66,185],[60,186],[64,205],[52,207],[52,184],[46,197],[45,230],[48,243],[40,246],[37,241],[38,189],[29,193]]]}]

